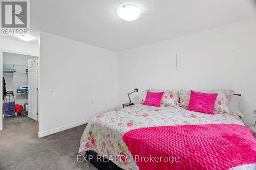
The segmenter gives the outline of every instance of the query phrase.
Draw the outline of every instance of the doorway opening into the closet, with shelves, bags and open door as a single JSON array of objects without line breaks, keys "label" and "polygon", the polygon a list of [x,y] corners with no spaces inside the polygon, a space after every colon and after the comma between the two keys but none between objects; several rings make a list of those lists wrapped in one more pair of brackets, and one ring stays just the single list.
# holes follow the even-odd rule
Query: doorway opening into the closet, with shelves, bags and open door
[{"label": "doorway opening into the closet, with shelves, bags and open door", "polygon": [[38,121],[38,57],[3,52],[3,121],[20,117]]}]

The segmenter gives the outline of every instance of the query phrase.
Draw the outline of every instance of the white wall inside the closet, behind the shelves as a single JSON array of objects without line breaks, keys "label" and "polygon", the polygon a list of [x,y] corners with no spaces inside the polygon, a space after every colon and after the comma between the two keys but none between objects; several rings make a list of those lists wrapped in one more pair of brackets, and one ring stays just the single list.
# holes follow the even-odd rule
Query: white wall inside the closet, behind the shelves
[{"label": "white wall inside the closet, behind the shelves", "polygon": [[[3,64],[15,64],[14,68],[16,68],[17,72],[26,73],[26,69],[28,68],[28,60],[34,58],[33,56],[21,55],[15,53],[4,53],[3,54]],[[23,65],[23,66],[22,66]],[[13,76],[12,74],[3,74],[6,82],[6,90],[13,91]],[[28,85],[28,75],[27,74],[15,74],[14,75],[14,93],[16,93],[16,89],[20,88],[20,85]],[[19,105],[24,105],[24,103],[28,103],[28,94],[19,94],[14,95],[15,103]]]}]

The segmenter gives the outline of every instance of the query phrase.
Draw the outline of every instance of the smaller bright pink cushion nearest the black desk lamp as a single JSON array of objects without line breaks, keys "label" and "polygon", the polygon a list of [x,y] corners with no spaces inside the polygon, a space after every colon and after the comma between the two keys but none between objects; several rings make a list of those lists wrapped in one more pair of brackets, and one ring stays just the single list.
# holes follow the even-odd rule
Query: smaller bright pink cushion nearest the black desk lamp
[{"label": "smaller bright pink cushion nearest the black desk lamp", "polygon": [[146,92],[146,100],[143,105],[160,107],[160,102],[163,96],[163,92]]}]

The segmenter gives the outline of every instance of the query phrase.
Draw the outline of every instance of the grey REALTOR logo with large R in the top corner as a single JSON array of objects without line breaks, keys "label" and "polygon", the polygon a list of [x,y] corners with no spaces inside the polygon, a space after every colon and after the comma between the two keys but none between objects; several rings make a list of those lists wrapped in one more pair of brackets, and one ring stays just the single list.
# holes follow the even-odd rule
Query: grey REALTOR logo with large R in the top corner
[{"label": "grey REALTOR logo with large R in the top corner", "polygon": [[1,2],[1,34],[29,33],[29,0]]}]

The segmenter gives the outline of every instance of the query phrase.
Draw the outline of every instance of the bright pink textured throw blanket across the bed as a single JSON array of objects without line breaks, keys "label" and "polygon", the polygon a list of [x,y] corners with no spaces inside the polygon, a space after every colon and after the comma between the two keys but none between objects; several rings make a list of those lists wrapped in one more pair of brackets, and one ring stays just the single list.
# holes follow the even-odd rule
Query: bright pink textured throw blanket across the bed
[{"label": "bright pink textured throw blanket across the bed", "polygon": [[256,139],[241,125],[140,128],[122,139],[140,170],[229,169],[256,163]]}]

